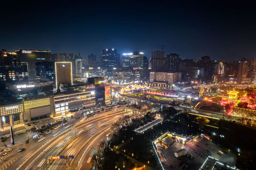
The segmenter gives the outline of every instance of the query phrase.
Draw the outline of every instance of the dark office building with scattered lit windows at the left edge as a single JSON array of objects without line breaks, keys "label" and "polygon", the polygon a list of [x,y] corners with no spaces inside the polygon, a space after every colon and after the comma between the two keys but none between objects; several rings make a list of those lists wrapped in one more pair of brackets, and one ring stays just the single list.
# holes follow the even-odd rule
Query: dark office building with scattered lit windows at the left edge
[{"label": "dark office building with scattered lit windows at the left edge", "polygon": [[20,62],[16,52],[0,51],[0,81],[28,80],[28,65]]}]

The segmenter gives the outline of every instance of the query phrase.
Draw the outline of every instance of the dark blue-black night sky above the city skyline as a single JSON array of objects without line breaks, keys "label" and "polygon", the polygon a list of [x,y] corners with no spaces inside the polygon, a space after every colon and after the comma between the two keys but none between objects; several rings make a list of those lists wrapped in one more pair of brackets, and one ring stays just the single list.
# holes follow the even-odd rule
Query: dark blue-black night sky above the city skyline
[{"label": "dark blue-black night sky above the city skyline", "polygon": [[182,59],[256,58],[256,6],[248,1],[81,2],[1,2],[0,48],[99,57],[108,47],[151,57],[164,46]]}]

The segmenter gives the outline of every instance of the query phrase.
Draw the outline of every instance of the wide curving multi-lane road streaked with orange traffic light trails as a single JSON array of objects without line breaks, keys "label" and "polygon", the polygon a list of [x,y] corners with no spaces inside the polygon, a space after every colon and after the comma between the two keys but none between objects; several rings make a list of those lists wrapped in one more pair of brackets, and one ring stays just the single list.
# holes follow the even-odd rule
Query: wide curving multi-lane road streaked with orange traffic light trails
[{"label": "wide curving multi-lane road streaked with orange traffic light trails", "polygon": [[95,117],[72,122],[72,124],[51,132],[42,138],[42,141],[30,143],[23,152],[13,150],[7,159],[0,162],[0,170],[46,169],[47,167],[49,169],[66,169],[66,159],[47,161],[49,157],[57,155],[74,155],[69,169],[90,168],[91,164],[87,163],[87,160],[96,152],[97,143],[106,139],[106,134],[111,132],[111,124],[128,113],[132,112],[124,108],[117,108]]}]

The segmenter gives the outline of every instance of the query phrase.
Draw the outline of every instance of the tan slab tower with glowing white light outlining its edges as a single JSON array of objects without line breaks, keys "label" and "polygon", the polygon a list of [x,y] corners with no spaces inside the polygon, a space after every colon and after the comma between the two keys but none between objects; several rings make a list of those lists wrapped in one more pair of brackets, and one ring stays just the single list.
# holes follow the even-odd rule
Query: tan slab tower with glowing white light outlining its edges
[{"label": "tan slab tower with glowing white light outlining its edges", "polygon": [[55,62],[55,82],[56,89],[61,85],[71,86],[72,81],[72,62]]}]

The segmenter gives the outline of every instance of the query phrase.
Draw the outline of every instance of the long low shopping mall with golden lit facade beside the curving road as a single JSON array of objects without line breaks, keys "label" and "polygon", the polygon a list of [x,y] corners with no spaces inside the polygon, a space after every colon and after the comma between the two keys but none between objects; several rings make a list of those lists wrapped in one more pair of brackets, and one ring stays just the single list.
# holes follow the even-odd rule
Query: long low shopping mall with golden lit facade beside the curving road
[{"label": "long low shopping mall with golden lit facade beside the curving road", "polygon": [[23,100],[12,104],[1,104],[0,127],[40,120],[42,118],[67,117],[72,110],[78,108],[92,108],[96,106],[94,88],[83,92],[65,92],[50,97]]}]

